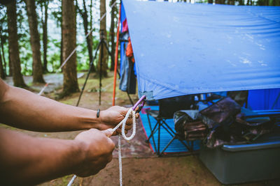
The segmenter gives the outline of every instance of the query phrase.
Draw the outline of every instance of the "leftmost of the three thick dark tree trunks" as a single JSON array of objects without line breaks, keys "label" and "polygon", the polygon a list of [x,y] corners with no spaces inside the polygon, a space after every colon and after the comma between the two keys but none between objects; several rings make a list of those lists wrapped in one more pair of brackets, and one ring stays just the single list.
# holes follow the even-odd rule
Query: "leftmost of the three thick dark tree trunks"
[{"label": "leftmost of the three thick dark tree trunks", "polygon": [[7,5],[8,15],[8,45],[9,59],[11,68],[13,69],[13,84],[14,86],[27,87],[20,68],[20,52],[18,49],[18,27],[17,27],[17,8],[16,1],[11,1]]}]

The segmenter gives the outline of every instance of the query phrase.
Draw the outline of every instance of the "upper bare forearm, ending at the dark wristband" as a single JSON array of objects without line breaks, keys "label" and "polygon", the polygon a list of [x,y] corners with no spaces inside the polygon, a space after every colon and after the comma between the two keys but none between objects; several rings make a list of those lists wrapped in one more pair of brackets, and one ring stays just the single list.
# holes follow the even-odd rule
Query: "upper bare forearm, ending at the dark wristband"
[{"label": "upper bare forearm, ending at the dark wristband", "polygon": [[97,111],[62,104],[22,88],[2,87],[6,91],[0,100],[1,123],[41,132],[83,130],[100,123]]}]

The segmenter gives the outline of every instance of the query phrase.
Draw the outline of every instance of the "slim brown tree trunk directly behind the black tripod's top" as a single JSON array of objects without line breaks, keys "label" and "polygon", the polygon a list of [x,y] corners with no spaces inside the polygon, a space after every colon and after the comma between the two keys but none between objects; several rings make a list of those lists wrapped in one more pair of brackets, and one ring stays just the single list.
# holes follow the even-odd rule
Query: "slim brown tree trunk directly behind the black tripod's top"
[{"label": "slim brown tree trunk directly behind the black tripod's top", "polygon": [[[100,18],[106,13],[106,0],[100,0]],[[104,34],[104,40],[107,38],[107,32],[106,32],[106,15],[100,22],[100,31],[99,36],[102,38],[102,32]],[[107,77],[107,61],[108,61],[108,52],[105,47],[105,45],[102,45],[103,48],[103,58],[99,56],[99,64],[98,64],[98,70],[99,72],[102,72],[102,76]],[[99,52],[100,54],[100,52]],[[102,66],[102,70],[100,70],[100,67]]]}]

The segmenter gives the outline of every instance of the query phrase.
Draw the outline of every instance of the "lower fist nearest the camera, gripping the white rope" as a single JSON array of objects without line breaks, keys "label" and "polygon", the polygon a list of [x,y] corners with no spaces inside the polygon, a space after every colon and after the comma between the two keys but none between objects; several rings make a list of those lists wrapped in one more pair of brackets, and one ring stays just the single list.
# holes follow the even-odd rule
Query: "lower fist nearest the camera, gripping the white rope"
[{"label": "lower fist nearest the camera, gripping the white rope", "polygon": [[109,138],[112,134],[112,129],[104,131],[90,129],[76,136],[74,140],[82,146],[82,154],[85,155],[84,160],[76,166],[78,169],[74,171],[77,176],[94,175],[111,162],[115,149],[115,144]]}]

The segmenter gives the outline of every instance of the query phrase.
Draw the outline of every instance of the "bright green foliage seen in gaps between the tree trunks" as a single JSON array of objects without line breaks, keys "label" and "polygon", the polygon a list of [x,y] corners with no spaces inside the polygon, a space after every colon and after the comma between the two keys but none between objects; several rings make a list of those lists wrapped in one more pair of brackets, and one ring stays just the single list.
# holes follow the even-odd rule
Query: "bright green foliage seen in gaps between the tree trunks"
[{"label": "bright green foliage seen in gaps between the tree trunks", "polygon": [[[49,19],[52,20],[52,22],[55,22],[55,26],[59,28],[61,26],[62,22],[62,7],[61,7],[61,0],[48,0],[50,3],[52,3],[52,6],[50,6],[50,17]],[[44,0],[38,0],[36,1],[36,11],[38,15],[38,26],[41,27],[41,5],[45,3]],[[6,20],[6,7],[0,6],[1,11],[0,12],[0,28],[1,28],[1,38],[3,40],[3,46],[4,46],[4,53],[6,57],[6,61],[8,62],[8,25]],[[32,51],[31,51],[31,45],[30,45],[30,35],[29,35],[29,25],[28,25],[28,17],[26,12],[26,4],[23,0],[17,1],[17,15],[18,15],[18,43],[19,43],[19,49],[20,49],[20,62],[21,62],[21,68],[22,68],[22,74],[23,75],[32,75]],[[81,19],[78,17],[78,19]],[[77,33],[82,33],[81,30],[83,29],[83,22],[80,22],[82,20],[77,20]],[[80,23],[80,24],[78,24]],[[51,27],[49,27],[51,29]],[[38,31],[40,34],[41,29],[38,28]],[[95,31],[95,30],[94,30]],[[50,32],[50,30],[49,30]],[[94,34],[98,36],[98,34]],[[59,36],[59,35],[57,35]],[[49,72],[57,72],[57,70],[60,67],[60,45],[61,45],[61,38],[57,38],[57,36],[48,36],[48,71]],[[77,36],[79,37],[79,36]],[[41,37],[42,38],[42,37]],[[88,70],[89,68],[89,56],[87,54],[87,44],[85,42],[85,39],[83,37],[83,40],[78,40],[80,43],[77,43],[78,50],[77,50],[77,70]],[[97,48],[99,39],[96,37],[93,37],[93,50]],[[43,54],[43,53],[42,53]],[[97,58],[98,59],[98,58]],[[94,61],[94,65],[97,65],[97,60]],[[8,68],[8,66],[7,66]],[[8,70],[8,69],[7,69]]]}]

